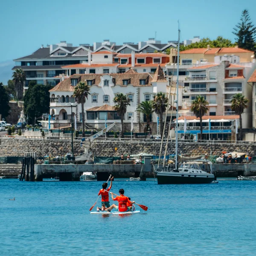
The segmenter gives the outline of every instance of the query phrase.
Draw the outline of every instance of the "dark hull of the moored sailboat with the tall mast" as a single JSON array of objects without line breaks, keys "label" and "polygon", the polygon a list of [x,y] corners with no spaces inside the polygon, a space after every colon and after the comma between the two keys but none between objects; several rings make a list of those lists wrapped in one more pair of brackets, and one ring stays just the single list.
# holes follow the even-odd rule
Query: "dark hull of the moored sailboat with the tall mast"
[{"label": "dark hull of the moored sailboat with the tall mast", "polygon": [[204,183],[211,183],[213,180],[214,180],[213,174],[207,174],[207,175],[193,174],[192,175],[192,174],[183,174],[179,172],[158,172],[157,173],[158,184],[204,184]]}]

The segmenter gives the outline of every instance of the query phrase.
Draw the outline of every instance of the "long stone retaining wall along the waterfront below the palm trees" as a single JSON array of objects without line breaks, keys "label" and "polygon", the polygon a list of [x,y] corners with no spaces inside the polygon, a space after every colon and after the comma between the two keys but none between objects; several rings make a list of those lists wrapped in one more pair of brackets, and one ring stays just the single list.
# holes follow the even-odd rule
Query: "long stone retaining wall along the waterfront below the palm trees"
[{"label": "long stone retaining wall along the waterfront below the palm trees", "polygon": [[[145,152],[148,154],[158,155],[160,151],[160,141],[149,140],[144,141],[105,141],[94,140],[90,143],[90,149],[96,157],[114,157],[121,154],[138,154]],[[117,148],[117,150],[115,150]],[[163,152],[165,143],[163,145]],[[51,155],[64,155],[71,152],[71,140],[47,140],[47,139],[15,139],[1,138],[0,139],[0,156],[24,156],[26,152],[36,151],[38,157]],[[80,147],[80,140],[74,140],[74,154],[83,153],[83,148]],[[238,151],[248,152],[250,156],[256,155],[256,144],[235,144],[235,143],[220,143],[215,141],[205,141],[204,143],[179,143],[179,154],[190,154],[196,156],[200,154],[213,155],[221,154],[222,151]],[[170,142],[167,154],[175,153],[175,143]]]}]

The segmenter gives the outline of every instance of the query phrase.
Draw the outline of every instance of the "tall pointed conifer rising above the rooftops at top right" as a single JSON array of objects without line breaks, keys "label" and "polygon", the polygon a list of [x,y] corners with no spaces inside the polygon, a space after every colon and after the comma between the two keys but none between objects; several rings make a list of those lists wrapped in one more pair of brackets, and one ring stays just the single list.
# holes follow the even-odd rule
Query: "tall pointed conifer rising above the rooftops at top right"
[{"label": "tall pointed conifer rising above the rooftops at top right", "polygon": [[242,11],[240,22],[233,29],[232,33],[237,37],[237,45],[243,49],[255,51],[256,27],[250,21],[247,10]]}]

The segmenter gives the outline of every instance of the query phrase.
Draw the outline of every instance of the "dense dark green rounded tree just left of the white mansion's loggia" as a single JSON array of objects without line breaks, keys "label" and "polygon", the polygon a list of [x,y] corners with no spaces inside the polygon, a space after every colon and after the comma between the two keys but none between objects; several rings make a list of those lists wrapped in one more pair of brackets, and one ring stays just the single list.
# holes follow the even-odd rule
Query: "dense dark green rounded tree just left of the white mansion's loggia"
[{"label": "dense dark green rounded tree just left of the white mansion's loggia", "polygon": [[29,123],[35,124],[35,120],[43,113],[49,113],[51,88],[50,85],[29,84],[24,96],[24,114],[28,117]]}]

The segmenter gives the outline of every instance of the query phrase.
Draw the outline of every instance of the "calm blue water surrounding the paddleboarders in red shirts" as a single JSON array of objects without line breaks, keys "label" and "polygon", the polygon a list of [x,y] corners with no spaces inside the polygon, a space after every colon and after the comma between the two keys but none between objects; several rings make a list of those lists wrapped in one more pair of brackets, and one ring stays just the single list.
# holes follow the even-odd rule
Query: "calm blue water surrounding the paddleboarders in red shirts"
[{"label": "calm blue water surrounding the paddleboarders in red shirts", "polygon": [[101,184],[0,180],[0,255],[255,255],[256,181],[114,181],[148,206],[122,217],[89,214]]}]

